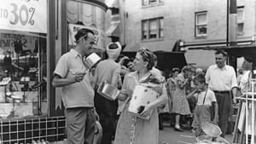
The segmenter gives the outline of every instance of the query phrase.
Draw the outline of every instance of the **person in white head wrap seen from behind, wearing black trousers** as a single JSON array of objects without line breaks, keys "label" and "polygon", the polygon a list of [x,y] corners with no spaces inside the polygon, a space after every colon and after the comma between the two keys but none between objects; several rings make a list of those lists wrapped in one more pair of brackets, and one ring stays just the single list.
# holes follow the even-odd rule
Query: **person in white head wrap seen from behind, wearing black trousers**
[{"label": "person in white head wrap seen from behind, wearing black trousers", "polygon": [[[119,42],[109,43],[107,46],[108,59],[102,60],[96,66],[96,72],[94,77],[94,83],[97,87],[106,82],[112,84],[114,87],[118,87],[120,78],[121,66],[115,60],[119,57],[121,52],[121,45]],[[99,113],[100,123],[102,124],[102,144],[111,144],[114,127],[116,121],[116,114],[118,109],[118,101],[110,101],[102,95],[96,92],[95,96],[96,112]]]}]

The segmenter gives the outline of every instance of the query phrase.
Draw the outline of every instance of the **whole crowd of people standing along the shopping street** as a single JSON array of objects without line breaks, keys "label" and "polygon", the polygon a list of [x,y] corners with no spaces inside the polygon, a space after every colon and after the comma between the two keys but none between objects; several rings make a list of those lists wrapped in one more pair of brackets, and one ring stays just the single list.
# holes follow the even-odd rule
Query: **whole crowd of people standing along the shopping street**
[{"label": "whole crowd of people standing along the shopping street", "polygon": [[[215,53],[216,64],[207,71],[173,67],[167,77],[156,68],[157,56],[152,51],[139,48],[135,58],[129,58],[120,55],[120,43],[109,43],[108,59],[101,60],[90,73],[83,58],[93,52],[94,38],[94,32],[80,29],[75,48],[61,55],[55,67],[52,84],[62,90],[69,144],[93,144],[96,121],[102,125],[102,144],[157,144],[165,113],[172,113],[174,130],[183,131],[181,118],[189,116],[195,136],[205,135],[201,124],[212,121],[224,137],[238,84],[223,50]],[[119,89],[117,100],[108,100],[97,92],[103,82]],[[133,91],[140,84],[159,95],[140,112],[142,116],[150,113],[149,119],[128,111]]]}]

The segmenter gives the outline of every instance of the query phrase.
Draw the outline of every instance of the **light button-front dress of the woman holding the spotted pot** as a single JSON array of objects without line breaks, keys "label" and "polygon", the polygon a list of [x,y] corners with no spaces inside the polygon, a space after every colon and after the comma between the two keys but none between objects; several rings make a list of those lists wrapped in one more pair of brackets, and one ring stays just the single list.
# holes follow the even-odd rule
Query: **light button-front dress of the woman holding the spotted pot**
[{"label": "light button-front dress of the woman holding the spotted pot", "polygon": [[[138,80],[137,72],[131,72],[125,76],[122,89],[133,91],[137,84],[143,79]],[[125,107],[121,112],[119,123],[115,134],[114,144],[158,144],[159,120],[157,109],[154,109],[149,120],[137,118],[128,112],[131,95],[125,101]]]}]

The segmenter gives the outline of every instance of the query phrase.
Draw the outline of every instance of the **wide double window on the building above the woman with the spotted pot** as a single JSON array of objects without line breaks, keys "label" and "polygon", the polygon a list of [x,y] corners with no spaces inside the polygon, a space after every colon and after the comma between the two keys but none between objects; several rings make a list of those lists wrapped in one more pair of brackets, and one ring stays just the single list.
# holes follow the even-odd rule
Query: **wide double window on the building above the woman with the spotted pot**
[{"label": "wide double window on the building above the woman with the spotted pot", "polygon": [[[151,28],[150,28],[150,21],[154,21],[156,20],[156,37],[150,37],[150,31]],[[163,20],[162,21],[162,27],[160,26],[160,20]],[[164,30],[164,17],[157,17],[157,18],[152,18],[152,19],[146,19],[146,20],[142,20],[142,23],[141,23],[141,26],[142,26],[142,31],[141,31],[141,39],[142,41],[150,41],[150,40],[158,40],[158,39],[161,39],[161,38],[164,38],[164,33],[163,33],[163,36],[161,37],[160,35],[160,32],[163,32]]]}]

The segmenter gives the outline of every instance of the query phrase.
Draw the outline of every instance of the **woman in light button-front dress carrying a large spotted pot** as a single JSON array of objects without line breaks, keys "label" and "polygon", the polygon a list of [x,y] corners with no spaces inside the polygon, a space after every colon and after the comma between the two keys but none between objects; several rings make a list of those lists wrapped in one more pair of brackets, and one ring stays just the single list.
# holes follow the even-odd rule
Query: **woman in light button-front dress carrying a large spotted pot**
[{"label": "woman in light button-front dress carrying a large spotted pot", "polygon": [[156,101],[146,106],[142,115],[148,115],[153,110],[151,117],[147,119],[138,118],[128,112],[131,95],[137,84],[149,84],[150,78],[157,78],[150,72],[154,66],[153,53],[148,49],[139,49],[134,60],[134,69],[125,76],[124,83],[119,94],[119,100],[125,101],[125,107],[121,112],[117,125],[114,144],[157,144],[159,138],[159,119],[157,107],[167,100],[164,82],[154,83],[153,89],[160,94]]}]

